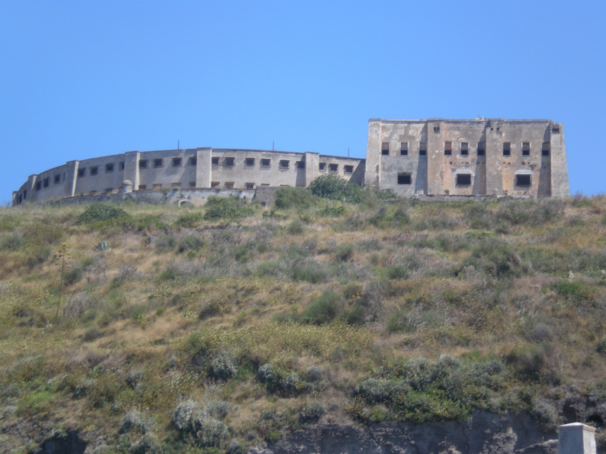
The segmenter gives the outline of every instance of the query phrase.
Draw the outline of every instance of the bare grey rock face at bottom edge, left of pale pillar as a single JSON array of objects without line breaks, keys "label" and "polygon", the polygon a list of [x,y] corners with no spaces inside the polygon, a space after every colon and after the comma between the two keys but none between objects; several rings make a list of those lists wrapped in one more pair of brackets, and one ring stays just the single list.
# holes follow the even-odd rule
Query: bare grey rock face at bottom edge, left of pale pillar
[{"label": "bare grey rock face at bottom edge, left of pale pillar", "polygon": [[556,454],[555,430],[542,432],[529,415],[477,411],[463,423],[318,424],[250,454]]}]

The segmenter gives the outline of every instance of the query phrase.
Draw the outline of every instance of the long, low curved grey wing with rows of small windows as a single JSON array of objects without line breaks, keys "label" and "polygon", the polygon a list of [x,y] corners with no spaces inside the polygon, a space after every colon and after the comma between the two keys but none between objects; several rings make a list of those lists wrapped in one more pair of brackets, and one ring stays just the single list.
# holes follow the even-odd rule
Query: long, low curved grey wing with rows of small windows
[{"label": "long, low curved grey wing with rows of small windows", "polygon": [[[193,148],[128,151],[48,169],[13,192],[13,206],[76,196],[111,194],[132,183],[133,191],[261,186],[308,186],[332,173],[364,185],[364,159],[290,151]],[[130,185],[128,185],[130,187]],[[129,188],[130,191],[130,188]]]}]

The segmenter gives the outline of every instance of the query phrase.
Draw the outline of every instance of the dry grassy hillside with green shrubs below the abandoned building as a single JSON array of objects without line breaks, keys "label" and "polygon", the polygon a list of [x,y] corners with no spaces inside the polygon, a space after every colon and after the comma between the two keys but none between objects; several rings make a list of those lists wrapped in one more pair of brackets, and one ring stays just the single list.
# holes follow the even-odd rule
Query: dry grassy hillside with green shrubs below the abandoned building
[{"label": "dry grassy hillside with green shrubs below the abandoned building", "polygon": [[606,197],[356,194],[4,209],[3,449],[239,452],[477,408],[553,428],[571,386],[606,395]]}]

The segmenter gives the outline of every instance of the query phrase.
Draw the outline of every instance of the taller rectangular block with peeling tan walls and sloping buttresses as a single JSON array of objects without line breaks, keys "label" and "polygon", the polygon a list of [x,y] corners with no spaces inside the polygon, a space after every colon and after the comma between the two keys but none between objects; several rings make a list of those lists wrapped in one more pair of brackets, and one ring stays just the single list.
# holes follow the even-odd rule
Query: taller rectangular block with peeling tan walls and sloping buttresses
[{"label": "taller rectangular block with peeling tan walls and sloping buttresses", "polygon": [[564,127],[551,120],[370,119],[365,184],[405,197],[566,197]]}]

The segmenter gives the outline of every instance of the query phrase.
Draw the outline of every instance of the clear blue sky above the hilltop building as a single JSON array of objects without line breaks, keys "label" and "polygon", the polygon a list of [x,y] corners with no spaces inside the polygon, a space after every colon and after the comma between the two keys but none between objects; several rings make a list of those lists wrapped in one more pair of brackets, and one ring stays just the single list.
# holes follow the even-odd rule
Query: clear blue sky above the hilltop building
[{"label": "clear blue sky above the hilltop building", "polygon": [[606,1],[0,2],[0,200],[72,159],[365,155],[385,118],[551,118],[606,191]]}]

